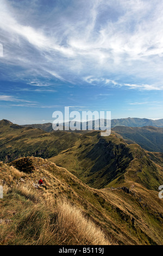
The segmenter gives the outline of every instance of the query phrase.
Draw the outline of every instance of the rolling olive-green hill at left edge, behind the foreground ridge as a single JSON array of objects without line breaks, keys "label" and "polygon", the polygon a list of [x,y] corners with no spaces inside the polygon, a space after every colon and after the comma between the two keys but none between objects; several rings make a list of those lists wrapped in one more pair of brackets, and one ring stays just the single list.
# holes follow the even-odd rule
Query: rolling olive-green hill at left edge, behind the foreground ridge
[{"label": "rolling olive-green hill at left edge, behind the foreground ridge", "polygon": [[0,160],[8,162],[22,156],[51,157],[74,145],[78,137],[76,133],[64,131],[49,133],[1,120]]}]

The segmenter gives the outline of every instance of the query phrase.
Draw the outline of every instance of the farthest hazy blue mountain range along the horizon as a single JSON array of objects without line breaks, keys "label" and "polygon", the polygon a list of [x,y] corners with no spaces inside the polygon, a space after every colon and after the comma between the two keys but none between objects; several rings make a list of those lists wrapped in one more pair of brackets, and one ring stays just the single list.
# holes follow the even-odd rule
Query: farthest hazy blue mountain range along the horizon
[{"label": "farthest hazy blue mountain range along the horizon", "polygon": [[[90,123],[90,121],[86,122],[86,127],[88,126],[89,123]],[[104,121],[104,123],[106,125],[106,120]],[[68,123],[65,123],[63,125],[68,126]],[[22,126],[40,128],[43,131],[47,131],[47,132],[53,131],[52,123],[28,124],[28,125],[22,125]],[[112,119],[111,120],[111,127],[115,127],[115,126],[129,126],[129,127],[155,126],[155,127],[163,127],[163,119],[152,120],[152,119],[147,119],[147,118],[130,118],[130,117],[129,118],[121,118],[121,119]],[[95,126],[93,125],[93,129],[94,128],[95,128]]]}]

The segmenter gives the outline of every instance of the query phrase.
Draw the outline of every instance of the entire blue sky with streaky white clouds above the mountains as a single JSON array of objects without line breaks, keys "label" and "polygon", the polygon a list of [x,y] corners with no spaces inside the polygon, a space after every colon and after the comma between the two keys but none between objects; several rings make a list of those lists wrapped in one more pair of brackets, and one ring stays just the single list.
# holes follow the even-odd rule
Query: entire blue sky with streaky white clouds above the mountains
[{"label": "entire blue sky with streaky white clouds above the mountains", "polygon": [[1,0],[0,17],[0,119],[163,118],[162,1]]}]

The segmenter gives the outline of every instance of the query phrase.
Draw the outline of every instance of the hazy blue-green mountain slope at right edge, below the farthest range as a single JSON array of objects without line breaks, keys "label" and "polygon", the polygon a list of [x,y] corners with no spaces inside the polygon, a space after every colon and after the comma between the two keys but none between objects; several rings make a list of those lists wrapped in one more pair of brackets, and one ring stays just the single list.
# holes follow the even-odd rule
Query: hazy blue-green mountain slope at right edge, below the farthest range
[{"label": "hazy blue-green mountain slope at right edge, below the farthest range", "polygon": [[[148,151],[158,151],[163,153],[163,128],[162,127],[123,127],[116,126],[112,129],[123,138],[130,139],[141,145]],[[131,142],[130,142],[131,143]]]}]

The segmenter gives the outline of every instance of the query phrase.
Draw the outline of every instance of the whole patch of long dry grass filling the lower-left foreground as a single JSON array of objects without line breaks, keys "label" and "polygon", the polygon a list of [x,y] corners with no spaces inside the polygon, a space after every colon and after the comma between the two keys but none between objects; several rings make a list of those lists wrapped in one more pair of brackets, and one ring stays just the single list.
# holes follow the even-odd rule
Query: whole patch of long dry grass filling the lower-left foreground
[{"label": "whole patch of long dry grass filling the lower-left foreground", "polygon": [[[67,199],[43,194],[30,184],[4,189],[1,245],[110,245],[103,231]],[[10,212],[10,215],[9,215]],[[12,215],[11,212],[16,212]]]}]

